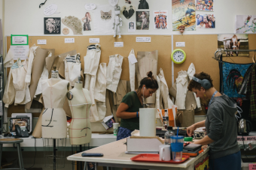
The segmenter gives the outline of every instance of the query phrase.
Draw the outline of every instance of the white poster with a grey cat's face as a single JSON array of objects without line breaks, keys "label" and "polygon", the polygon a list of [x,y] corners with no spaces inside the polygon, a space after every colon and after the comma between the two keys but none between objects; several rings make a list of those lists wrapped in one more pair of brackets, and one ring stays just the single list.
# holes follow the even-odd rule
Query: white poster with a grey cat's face
[{"label": "white poster with a grey cat's face", "polygon": [[109,4],[97,5],[93,15],[95,34],[114,34],[114,7]]}]

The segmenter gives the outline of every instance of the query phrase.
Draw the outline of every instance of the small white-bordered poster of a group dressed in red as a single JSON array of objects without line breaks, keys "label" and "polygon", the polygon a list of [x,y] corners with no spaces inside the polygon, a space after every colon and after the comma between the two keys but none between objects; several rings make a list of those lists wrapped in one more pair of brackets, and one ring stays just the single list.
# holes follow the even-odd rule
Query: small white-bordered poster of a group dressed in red
[{"label": "small white-bordered poster of a group dressed in red", "polygon": [[168,10],[154,10],[154,29],[167,29]]}]

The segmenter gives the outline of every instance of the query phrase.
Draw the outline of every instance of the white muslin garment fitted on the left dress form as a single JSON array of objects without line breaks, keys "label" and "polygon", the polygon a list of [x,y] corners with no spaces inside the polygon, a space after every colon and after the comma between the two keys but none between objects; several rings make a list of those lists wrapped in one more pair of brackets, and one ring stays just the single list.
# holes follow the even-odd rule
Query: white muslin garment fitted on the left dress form
[{"label": "white muslin garment fitted on the left dress form", "polygon": [[69,81],[59,79],[52,85],[52,79],[42,82],[44,112],[41,119],[43,138],[63,139],[67,137],[67,119],[63,104],[66,100]]}]

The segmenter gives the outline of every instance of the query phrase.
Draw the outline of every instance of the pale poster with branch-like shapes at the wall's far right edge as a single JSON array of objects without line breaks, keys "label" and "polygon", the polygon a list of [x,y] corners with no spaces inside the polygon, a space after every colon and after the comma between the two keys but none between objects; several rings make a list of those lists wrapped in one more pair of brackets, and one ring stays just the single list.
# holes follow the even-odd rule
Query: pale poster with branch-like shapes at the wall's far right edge
[{"label": "pale poster with branch-like shapes at the wall's far right edge", "polygon": [[236,15],[236,33],[256,33],[256,15]]}]

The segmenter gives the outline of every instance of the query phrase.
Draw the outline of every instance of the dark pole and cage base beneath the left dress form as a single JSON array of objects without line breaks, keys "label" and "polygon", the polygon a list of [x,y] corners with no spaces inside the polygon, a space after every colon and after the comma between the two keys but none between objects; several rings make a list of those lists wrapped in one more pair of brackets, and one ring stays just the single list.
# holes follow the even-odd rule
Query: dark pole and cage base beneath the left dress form
[{"label": "dark pole and cage base beneath the left dress form", "polygon": [[44,166],[53,170],[65,167],[66,160],[66,138],[46,139],[44,144]]}]

